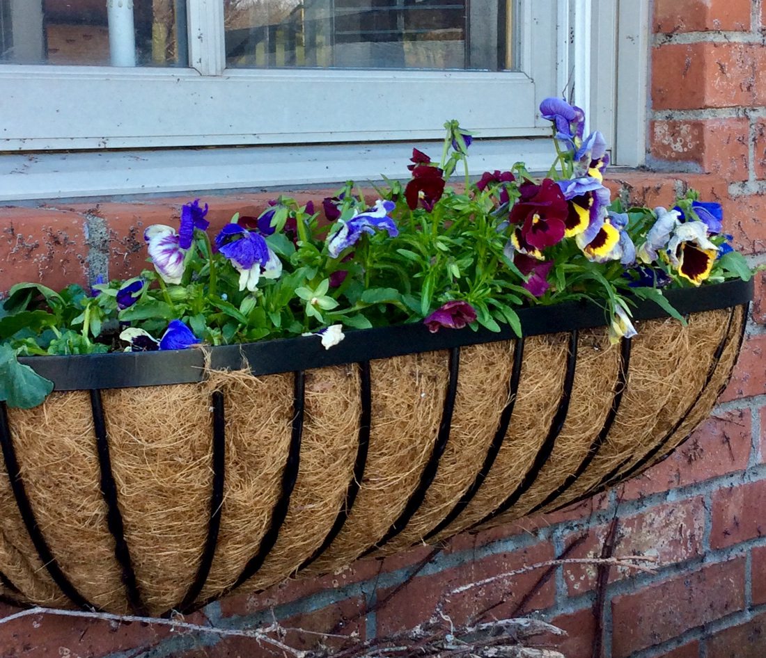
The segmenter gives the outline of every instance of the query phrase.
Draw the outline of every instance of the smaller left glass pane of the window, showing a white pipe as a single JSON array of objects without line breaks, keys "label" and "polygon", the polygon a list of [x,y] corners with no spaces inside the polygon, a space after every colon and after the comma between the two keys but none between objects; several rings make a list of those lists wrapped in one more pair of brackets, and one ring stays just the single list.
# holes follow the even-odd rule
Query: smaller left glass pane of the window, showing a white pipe
[{"label": "smaller left glass pane of the window, showing a white pipe", "polygon": [[188,66],[186,0],[0,0],[0,63]]}]

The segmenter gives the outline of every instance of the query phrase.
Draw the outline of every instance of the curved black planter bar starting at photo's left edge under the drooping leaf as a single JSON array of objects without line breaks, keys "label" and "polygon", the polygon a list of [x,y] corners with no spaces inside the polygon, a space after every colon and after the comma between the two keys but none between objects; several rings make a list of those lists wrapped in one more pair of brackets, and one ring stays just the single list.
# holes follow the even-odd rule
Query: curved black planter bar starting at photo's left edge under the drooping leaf
[{"label": "curved black planter bar starting at photo's left edge under the drooping leaf", "polygon": [[69,578],[64,575],[64,572],[61,571],[61,567],[56,562],[51,549],[48,547],[38,527],[37,521],[34,519],[32,506],[19,473],[20,469],[18,459],[16,458],[16,449],[13,445],[13,438],[11,438],[11,429],[8,426],[8,410],[5,408],[5,402],[0,402],[0,446],[2,446],[5,470],[8,473],[8,480],[11,483],[11,490],[16,499],[18,512],[21,514],[21,520],[24,522],[34,549],[38,552],[40,561],[51,575],[51,578],[53,578],[53,581],[58,585],[58,588],[64,593],[64,596],[69,598],[72,603],[83,610],[97,610],[98,608],[88,603],[83,595],[71,584]]}]

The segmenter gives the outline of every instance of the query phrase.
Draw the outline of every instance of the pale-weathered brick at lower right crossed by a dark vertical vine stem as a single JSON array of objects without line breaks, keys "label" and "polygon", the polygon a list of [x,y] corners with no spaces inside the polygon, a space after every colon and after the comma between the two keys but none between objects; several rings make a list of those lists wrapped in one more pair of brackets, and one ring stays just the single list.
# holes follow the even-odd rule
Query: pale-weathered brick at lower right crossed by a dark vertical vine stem
[{"label": "pale-weathered brick at lower right crossed by a dark vertical vine stem", "polygon": [[[705,528],[705,507],[701,497],[679,503],[658,505],[643,513],[620,520],[614,555],[647,555],[660,564],[676,564],[702,553],[702,534]],[[598,558],[604,546],[609,524],[588,530],[588,539],[567,556],[570,558]],[[567,537],[575,541],[579,533]],[[612,568],[609,581],[636,575],[628,568]],[[564,565],[564,579],[569,596],[578,596],[596,585],[596,565]]]}]

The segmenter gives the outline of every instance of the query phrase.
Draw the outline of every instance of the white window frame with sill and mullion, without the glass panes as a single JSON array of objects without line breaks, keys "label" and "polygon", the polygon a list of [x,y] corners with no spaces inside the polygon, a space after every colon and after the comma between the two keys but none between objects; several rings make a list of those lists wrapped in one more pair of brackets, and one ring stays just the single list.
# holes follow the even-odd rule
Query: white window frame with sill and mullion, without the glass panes
[{"label": "white window frame with sill and mullion, without the glass panes", "polygon": [[[545,167],[550,123],[537,107],[573,83],[575,103],[592,109],[614,139],[618,80],[609,67],[635,68],[641,59],[618,52],[617,26],[644,30],[647,18],[630,21],[646,17],[648,0],[519,5],[515,72],[227,70],[221,0],[188,0],[193,68],[2,65],[0,200],[401,176],[409,144],[441,138],[441,124],[452,118],[481,137],[472,146],[475,171],[517,159]],[[642,132],[643,125],[633,130]],[[225,148],[232,145],[253,148]],[[200,146],[224,148],[188,149]],[[21,155],[27,151],[59,152]],[[20,168],[25,177],[13,175]]]}]

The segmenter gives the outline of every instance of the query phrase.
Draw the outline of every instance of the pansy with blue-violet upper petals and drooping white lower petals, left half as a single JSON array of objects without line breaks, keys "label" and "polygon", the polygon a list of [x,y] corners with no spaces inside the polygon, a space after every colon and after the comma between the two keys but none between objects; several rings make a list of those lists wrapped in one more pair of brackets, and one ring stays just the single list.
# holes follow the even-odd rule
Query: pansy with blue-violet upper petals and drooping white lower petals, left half
[{"label": "pansy with blue-violet upper petals and drooping white lower petals, left half", "polygon": [[277,279],[282,261],[267,245],[264,236],[231,223],[215,237],[215,246],[240,273],[239,289],[254,292],[260,277]]}]

